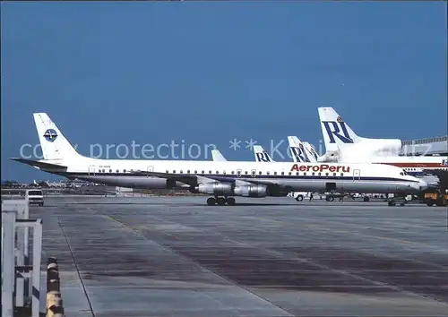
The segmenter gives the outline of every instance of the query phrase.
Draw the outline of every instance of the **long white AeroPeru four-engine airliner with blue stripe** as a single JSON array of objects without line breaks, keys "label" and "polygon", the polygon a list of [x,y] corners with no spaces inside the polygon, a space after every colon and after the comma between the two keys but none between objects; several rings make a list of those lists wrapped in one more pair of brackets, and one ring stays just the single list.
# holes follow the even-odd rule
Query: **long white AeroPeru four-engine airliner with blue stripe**
[{"label": "long white AeroPeru four-engine airliner with blue stripe", "polygon": [[92,159],[80,155],[45,113],[34,114],[44,159],[14,159],[43,171],[99,184],[188,188],[210,194],[207,203],[235,204],[231,196],[286,196],[293,191],[418,193],[425,181],[399,167],[199,160]]}]

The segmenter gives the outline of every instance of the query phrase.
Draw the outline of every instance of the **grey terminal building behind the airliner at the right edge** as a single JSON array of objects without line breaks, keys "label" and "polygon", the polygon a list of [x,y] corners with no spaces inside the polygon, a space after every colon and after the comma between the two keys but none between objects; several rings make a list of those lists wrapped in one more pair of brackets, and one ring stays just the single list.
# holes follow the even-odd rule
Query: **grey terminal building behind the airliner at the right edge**
[{"label": "grey terminal building behind the airliner at the right edge", "polygon": [[448,155],[448,135],[403,141],[403,153],[406,155]]}]

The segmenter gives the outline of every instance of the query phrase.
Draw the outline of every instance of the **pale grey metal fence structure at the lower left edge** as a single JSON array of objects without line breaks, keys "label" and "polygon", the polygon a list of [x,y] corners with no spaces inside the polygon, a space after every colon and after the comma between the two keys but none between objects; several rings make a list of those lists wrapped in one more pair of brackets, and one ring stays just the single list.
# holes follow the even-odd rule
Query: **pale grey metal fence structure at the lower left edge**
[{"label": "pale grey metal fence structure at the lower left edge", "polygon": [[42,220],[26,200],[2,201],[2,317],[39,317],[41,256]]}]

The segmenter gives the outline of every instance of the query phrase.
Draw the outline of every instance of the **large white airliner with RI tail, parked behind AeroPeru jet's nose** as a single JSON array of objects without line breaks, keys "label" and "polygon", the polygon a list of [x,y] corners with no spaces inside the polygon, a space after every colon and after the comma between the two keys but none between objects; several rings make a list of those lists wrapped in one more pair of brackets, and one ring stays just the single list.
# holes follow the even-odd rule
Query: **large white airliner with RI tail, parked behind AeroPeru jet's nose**
[{"label": "large white airliner with RI tail, parked behind AeroPeru jet's nose", "polygon": [[446,156],[399,156],[401,141],[398,139],[358,137],[332,107],[320,107],[319,117],[327,150],[327,154],[319,161],[387,164],[401,167],[412,176],[448,171]]}]

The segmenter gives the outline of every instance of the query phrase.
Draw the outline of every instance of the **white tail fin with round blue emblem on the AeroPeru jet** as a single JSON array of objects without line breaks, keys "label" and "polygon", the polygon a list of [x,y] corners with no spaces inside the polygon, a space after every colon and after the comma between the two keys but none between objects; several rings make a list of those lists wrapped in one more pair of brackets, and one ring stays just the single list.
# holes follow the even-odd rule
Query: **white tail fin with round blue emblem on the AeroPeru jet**
[{"label": "white tail fin with round blue emblem on the AeroPeru jet", "polygon": [[46,113],[35,113],[33,116],[44,159],[58,160],[81,157]]}]

